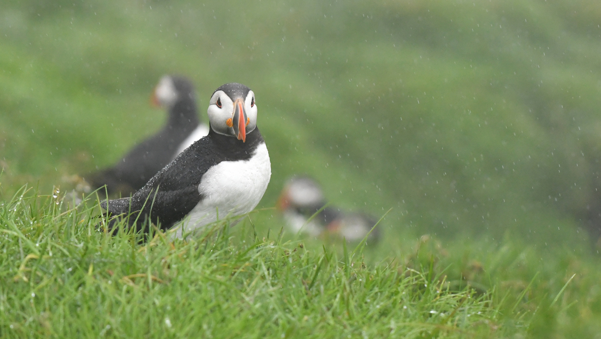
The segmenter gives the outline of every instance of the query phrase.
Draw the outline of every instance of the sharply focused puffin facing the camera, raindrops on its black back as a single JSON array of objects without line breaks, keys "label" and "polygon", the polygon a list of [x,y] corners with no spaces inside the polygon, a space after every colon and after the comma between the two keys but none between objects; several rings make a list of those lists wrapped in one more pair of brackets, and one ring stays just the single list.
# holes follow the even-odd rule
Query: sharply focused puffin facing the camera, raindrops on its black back
[{"label": "sharply focused puffin facing the camera, raindrops on its black back", "polygon": [[182,237],[221,216],[243,215],[259,203],[271,177],[267,146],[257,127],[255,94],[242,84],[222,85],[207,109],[209,134],[195,141],[130,198],[100,203],[109,227],[126,218],[148,233],[177,225]]}]

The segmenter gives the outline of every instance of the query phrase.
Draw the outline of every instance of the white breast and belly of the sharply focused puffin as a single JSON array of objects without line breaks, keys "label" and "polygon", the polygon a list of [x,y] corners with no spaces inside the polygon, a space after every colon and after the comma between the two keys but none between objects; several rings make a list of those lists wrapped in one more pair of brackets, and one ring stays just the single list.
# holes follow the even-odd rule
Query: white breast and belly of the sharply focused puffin
[{"label": "white breast and belly of the sharply focused puffin", "polygon": [[[240,215],[251,212],[259,203],[269,179],[271,163],[265,143],[258,145],[251,159],[222,161],[209,168],[198,185],[203,200],[184,219],[184,227],[190,231],[231,213]],[[182,228],[177,236],[182,236]]]}]

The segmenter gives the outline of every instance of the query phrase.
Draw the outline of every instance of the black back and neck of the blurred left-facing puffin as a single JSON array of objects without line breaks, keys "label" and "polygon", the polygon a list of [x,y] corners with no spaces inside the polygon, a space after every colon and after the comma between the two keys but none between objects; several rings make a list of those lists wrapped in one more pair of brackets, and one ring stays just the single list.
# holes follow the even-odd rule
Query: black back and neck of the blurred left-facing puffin
[{"label": "black back and neck of the blurred left-facing puffin", "polygon": [[[132,148],[111,168],[93,174],[94,188],[106,185],[109,194],[132,194],[165,167],[179,145],[198,126],[194,85],[188,79],[171,76],[178,98],[169,108],[166,125],[155,135]],[[143,128],[136,124],[135,128]]]}]

